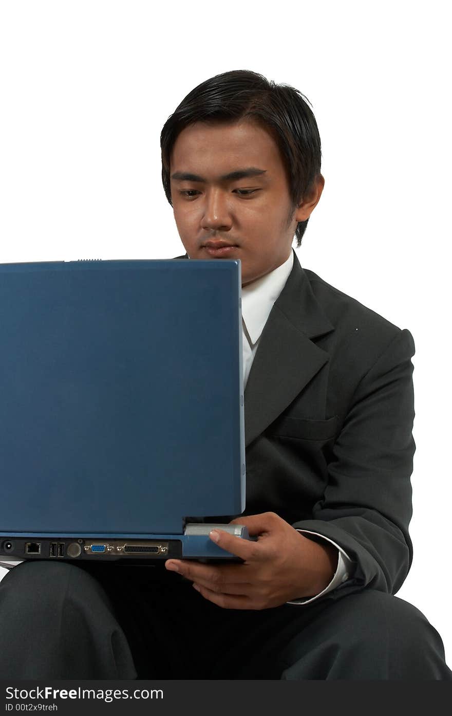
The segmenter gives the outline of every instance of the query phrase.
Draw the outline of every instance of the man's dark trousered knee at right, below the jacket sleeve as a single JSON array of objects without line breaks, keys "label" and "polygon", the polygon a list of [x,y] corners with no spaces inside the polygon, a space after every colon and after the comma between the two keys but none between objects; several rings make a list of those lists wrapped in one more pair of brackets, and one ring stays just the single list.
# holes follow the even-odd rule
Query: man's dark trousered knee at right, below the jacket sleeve
[{"label": "man's dark trousered knee at right, below the jacket sleeve", "polygon": [[285,660],[293,666],[284,678],[300,673],[308,674],[304,678],[320,673],[325,679],[451,676],[441,637],[426,617],[412,604],[383,592],[363,590],[333,601],[301,637],[301,642],[297,637],[290,645],[290,658]]}]

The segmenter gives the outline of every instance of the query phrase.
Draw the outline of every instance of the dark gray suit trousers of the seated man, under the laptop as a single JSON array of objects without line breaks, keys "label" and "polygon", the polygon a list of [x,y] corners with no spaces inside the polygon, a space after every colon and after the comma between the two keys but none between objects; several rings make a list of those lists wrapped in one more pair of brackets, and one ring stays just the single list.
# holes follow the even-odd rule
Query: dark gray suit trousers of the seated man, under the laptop
[{"label": "dark gray suit trousers of the seated man, under the laptop", "polygon": [[382,592],[227,610],[161,566],[30,561],[0,582],[0,678],[452,680],[452,672],[426,617]]}]

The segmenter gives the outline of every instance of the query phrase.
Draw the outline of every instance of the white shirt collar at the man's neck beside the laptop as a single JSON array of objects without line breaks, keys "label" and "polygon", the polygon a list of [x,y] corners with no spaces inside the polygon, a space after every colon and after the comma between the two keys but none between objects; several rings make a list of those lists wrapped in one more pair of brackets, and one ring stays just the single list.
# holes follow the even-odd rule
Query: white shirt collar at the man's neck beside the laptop
[{"label": "white shirt collar at the man's neck beside the laptop", "polygon": [[242,319],[254,345],[267,322],[273,304],[293,269],[293,251],[287,261],[249,286],[242,286]]}]

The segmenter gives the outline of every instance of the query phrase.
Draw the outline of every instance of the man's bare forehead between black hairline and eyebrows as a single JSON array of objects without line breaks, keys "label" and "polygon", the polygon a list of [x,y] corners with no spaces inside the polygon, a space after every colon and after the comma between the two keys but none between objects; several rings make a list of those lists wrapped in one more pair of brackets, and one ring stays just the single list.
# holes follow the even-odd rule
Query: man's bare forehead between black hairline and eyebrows
[{"label": "man's bare forehead between black hairline and eyebrows", "polygon": [[178,135],[170,156],[171,172],[220,175],[237,166],[283,168],[280,150],[269,130],[251,120],[195,122]]}]

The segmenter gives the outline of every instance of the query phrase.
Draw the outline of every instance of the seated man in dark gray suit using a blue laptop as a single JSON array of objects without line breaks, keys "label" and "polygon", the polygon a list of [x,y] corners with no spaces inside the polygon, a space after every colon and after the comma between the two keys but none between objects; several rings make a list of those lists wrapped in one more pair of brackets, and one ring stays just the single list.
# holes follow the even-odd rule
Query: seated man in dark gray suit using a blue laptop
[{"label": "seated man in dark gray suit using a blue laptop", "polygon": [[241,261],[234,517],[257,540],[213,531],[243,560],[220,566],[20,565],[0,585],[4,677],[451,679],[435,629],[393,596],[412,558],[413,338],[292,250],[324,185],[313,113],[292,87],[226,72],[161,144],[185,258]]}]

